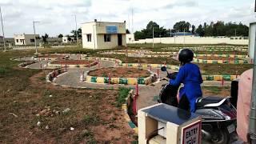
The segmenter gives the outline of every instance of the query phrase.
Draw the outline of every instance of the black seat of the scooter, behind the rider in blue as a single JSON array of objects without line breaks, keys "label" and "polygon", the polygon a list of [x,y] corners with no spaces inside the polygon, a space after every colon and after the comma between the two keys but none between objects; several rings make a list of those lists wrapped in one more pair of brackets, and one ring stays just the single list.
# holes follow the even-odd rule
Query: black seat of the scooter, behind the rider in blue
[{"label": "black seat of the scooter, behind the rider in blue", "polygon": [[197,108],[204,107],[208,104],[217,104],[218,102],[222,102],[223,98],[219,97],[213,97],[213,96],[208,96],[208,97],[201,97],[198,98],[196,101],[196,106]]}]

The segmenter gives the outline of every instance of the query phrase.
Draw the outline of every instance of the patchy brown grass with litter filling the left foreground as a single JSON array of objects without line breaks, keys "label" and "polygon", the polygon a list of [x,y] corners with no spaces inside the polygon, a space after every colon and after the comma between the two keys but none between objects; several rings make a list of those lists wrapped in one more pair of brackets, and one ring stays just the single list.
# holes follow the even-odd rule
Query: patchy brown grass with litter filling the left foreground
[{"label": "patchy brown grass with litter filling the left foreground", "polygon": [[[43,50],[48,51],[58,50]],[[62,49],[63,53],[67,51]],[[136,140],[122,115],[118,95],[123,97],[123,90],[75,90],[52,86],[45,80],[49,70],[22,69],[17,66],[19,62],[9,60],[33,52],[0,52],[0,143],[123,143]]]}]

